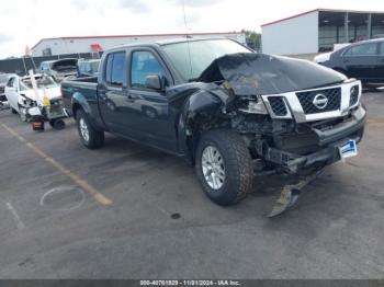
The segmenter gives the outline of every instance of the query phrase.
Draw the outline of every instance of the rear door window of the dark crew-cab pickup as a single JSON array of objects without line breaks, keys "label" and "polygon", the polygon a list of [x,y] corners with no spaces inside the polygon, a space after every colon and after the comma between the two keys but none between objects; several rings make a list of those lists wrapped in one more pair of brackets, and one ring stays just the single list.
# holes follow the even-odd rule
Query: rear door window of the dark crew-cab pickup
[{"label": "rear door window of the dark crew-cab pickup", "polygon": [[126,85],[125,51],[110,54],[105,65],[105,81],[111,85]]}]

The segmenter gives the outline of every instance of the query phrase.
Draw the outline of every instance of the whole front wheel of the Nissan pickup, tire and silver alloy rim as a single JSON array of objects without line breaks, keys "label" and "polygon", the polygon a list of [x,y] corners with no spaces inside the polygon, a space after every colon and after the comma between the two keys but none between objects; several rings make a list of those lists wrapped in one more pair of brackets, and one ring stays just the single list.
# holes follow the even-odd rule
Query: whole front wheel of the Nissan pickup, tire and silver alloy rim
[{"label": "whole front wheel of the Nissan pickup, tire and silver alloy rim", "polygon": [[195,157],[197,177],[214,203],[234,205],[251,191],[251,157],[239,135],[230,130],[207,131],[199,142]]}]

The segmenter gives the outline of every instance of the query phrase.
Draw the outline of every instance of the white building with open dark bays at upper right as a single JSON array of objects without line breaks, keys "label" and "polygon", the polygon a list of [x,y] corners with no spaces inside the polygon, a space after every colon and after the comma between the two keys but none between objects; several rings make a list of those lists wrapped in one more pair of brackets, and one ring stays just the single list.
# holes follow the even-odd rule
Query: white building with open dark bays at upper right
[{"label": "white building with open dark bays at upper right", "polygon": [[263,53],[315,54],[331,50],[335,44],[384,36],[384,13],[316,9],[261,28]]}]

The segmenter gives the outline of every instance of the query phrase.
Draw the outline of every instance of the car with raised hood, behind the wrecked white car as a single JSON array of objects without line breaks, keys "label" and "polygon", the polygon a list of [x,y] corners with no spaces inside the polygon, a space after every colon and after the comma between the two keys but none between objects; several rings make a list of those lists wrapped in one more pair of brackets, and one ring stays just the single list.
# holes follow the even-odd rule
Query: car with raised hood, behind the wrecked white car
[{"label": "car with raised hood, behind the wrecked white car", "polygon": [[77,74],[78,59],[60,59],[42,61],[38,72],[50,76],[56,82],[61,82],[65,78]]}]

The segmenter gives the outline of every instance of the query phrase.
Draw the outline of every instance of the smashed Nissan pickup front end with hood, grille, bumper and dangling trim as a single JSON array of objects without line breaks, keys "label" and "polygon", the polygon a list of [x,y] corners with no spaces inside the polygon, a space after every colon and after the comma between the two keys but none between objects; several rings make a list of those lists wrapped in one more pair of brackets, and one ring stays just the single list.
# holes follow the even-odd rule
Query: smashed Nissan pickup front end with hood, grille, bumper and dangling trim
[{"label": "smashed Nissan pickup front end with hood, grille, bumper and dangling trim", "polygon": [[[325,165],[343,158],[341,147],[362,139],[366,112],[361,82],[318,65],[235,54],[216,59],[199,81],[225,91],[223,114],[247,141],[257,174],[313,170],[300,181],[302,188]],[[271,215],[289,208],[300,188],[286,187]]]}]

